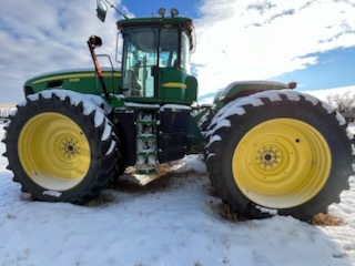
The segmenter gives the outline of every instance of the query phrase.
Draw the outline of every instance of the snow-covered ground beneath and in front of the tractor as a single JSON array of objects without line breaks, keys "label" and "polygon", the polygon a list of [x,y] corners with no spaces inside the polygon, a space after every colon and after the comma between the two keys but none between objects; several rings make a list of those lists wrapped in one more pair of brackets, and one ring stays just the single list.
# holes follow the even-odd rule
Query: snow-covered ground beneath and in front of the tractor
[{"label": "snow-covered ground beneath and in front of the tractor", "polygon": [[144,187],[122,182],[88,206],[32,202],[7,163],[0,156],[1,266],[355,265],[355,176],[331,206],[344,223],[320,227],[222,218],[200,156]]}]

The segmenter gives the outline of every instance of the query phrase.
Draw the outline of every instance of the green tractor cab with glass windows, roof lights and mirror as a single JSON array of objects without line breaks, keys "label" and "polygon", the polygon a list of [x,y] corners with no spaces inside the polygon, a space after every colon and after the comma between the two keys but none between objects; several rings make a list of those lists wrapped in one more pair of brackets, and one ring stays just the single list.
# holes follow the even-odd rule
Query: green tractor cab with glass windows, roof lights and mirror
[{"label": "green tractor cab with glass windows, roof lights and mirror", "polygon": [[[116,22],[122,34],[121,94],[128,101],[191,104],[196,101],[197,81],[190,75],[190,53],[195,47],[192,20],[171,10],[160,18],[134,18]],[[98,4],[104,20],[105,6]]]}]

